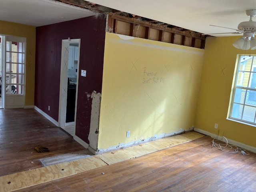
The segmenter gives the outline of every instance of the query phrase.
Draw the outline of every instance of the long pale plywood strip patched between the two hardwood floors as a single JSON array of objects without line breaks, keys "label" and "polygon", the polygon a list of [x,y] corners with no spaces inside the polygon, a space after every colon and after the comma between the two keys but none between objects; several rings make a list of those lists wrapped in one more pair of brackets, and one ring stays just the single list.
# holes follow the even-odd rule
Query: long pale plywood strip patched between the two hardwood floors
[{"label": "long pale plywood strip patched between the two hardwood floors", "polygon": [[27,188],[29,186],[82,173],[87,170],[115,164],[150,154],[170,146],[189,142],[203,136],[204,135],[196,132],[188,132],[71,162],[63,162],[60,164],[5,175],[0,177],[0,192],[9,192]]}]

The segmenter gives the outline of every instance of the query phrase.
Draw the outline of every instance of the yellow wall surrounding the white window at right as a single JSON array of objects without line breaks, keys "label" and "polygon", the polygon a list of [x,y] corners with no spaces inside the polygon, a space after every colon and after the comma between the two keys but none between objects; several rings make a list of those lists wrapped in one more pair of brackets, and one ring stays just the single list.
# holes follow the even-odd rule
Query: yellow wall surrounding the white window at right
[{"label": "yellow wall surrounding the white window at right", "polygon": [[[255,127],[226,119],[237,55],[250,53],[232,46],[238,38],[240,36],[206,39],[195,127],[256,147]],[[251,54],[256,54],[256,50]],[[215,123],[218,129],[214,128]]]}]

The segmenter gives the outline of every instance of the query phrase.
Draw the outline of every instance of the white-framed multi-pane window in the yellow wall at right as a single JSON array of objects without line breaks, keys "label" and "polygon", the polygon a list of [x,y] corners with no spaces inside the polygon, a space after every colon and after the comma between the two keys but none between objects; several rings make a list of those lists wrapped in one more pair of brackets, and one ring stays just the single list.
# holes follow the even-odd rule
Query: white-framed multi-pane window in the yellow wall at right
[{"label": "white-framed multi-pane window in the yellow wall at right", "polygon": [[256,56],[240,56],[230,119],[256,125]]}]

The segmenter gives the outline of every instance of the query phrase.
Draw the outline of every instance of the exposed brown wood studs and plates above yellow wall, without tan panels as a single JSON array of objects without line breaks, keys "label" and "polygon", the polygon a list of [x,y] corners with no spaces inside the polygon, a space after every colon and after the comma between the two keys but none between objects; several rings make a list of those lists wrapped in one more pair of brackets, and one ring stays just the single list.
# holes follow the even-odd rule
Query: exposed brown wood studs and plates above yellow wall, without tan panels
[{"label": "exposed brown wood studs and plates above yellow wall, without tan panels", "polygon": [[[139,26],[143,26],[146,28],[145,39],[152,39],[152,38],[150,38],[150,30],[154,29],[154,30],[159,31],[158,37],[155,38],[158,41],[163,42],[164,41],[164,33],[169,32],[171,34],[170,43],[172,43],[172,44],[174,44],[175,34],[177,34],[179,36],[179,39],[181,38],[181,43],[179,42],[178,44],[188,46],[188,45],[185,45],[185,42],[187,42],[186,38],[188,38],[189,42],[190,42],[189,46],[201,48],[201,49],[204,48],[205,37],[201,36],[200,34],[191,33],[190,30],[182,31],[178,27],[168,28],[165,25],[154,24],[153,22],[155,22],[155,21],[153,21],[153,20],[149,21],[149,22],[145,22],[145,21],[137,20],[137,19],[135,19],[135,17],[129,18],[129,17],[121,16],[121,15],[114,14],[114,13],[108,13],[108,28],[107,28],[108,30],[107,30],[107,32],[117,33],[117,29],[119,27],[117,25],[118,21],[130,24],[130,31],[128,31],[124,35],[129,35],[129,36],[135,37],[136,36],[136,34],[134,32],[135,26],[139,25]],[[120,26],[120,27],[122,27],[122,26]],[[195,43],[195,42],[197,42],[197,43]]]}]

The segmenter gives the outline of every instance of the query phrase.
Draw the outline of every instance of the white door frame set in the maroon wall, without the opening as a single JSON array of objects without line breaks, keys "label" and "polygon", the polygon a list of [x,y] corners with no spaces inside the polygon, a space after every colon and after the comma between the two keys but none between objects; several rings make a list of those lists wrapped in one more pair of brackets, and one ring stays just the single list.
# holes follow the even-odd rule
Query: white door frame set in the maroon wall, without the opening
[{"label": "white door frame set in the maroon wall, without the opening", "polygon": [[[65,127],[66,126],[69,45],[73,44],[73,43],[78,43],[77,71],[79,72],[80,42],[81,42],[81,39],[64,39],[64,40],[62,40],[61,69],[60,69],[59,118],[58,118],[58,126],[59,127]],[[75,123],[74,136],[75,136],[75,133],[76,133],[77,93],[78,93],[78,75],[77,75],[77,81],[76,81],[76,104],[75,104],[75,118],[74,118],[74,123]]]}]

